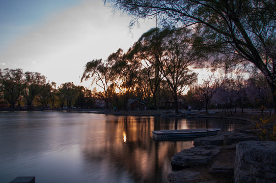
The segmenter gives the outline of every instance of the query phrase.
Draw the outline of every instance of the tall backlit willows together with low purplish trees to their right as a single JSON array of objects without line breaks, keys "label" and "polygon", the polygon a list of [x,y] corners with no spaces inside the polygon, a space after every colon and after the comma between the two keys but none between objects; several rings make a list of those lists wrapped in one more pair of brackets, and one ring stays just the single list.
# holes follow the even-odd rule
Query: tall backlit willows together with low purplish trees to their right
[{"label": "tall backlit willows together with low purplish trees to their right", "polygon": [[[118,49],[106,60],[88,62],[81,80],[92,80],[101,87],[100,97],[105,107],[128,109],[131,98],[148,103],[148,109],[179,109],[192,106],[225,111],[242,108],[269,108],[272,110],[271,89],[262,74],[252,67],[249,79],[210,75],[198,83],[197,68],[219,63],[198,44],[198,35],[188,29],[153,28],[129,48]],[[214,69],[214,67],[212,68]],[[189,92],[184,92],[189,88]]]}]

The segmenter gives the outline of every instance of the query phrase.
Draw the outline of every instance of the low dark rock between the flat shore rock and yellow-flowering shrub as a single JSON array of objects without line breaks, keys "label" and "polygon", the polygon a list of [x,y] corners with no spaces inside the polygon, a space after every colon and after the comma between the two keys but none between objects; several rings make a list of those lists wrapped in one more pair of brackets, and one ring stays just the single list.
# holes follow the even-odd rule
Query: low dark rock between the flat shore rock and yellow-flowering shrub
[{"label": "low dark rock between the flat shore rock and yellow-flowering shrub", "polygon": [[248,140],[259,141],[261,139],[260,137],[255,135],[244,134],[244,133],[233,131],[232,133],[229,133],[227,138],[224,139],[224,143],[227,145],[231,145],[233,143],[238,143],[241,141],[248,141]]}]

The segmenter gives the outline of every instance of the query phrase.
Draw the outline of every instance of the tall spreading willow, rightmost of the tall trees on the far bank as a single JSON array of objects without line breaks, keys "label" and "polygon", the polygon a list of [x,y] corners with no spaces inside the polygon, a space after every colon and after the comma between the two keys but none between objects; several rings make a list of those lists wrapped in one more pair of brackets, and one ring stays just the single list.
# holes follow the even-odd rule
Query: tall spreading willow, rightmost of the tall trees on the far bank
[{"label": "tall spreading willow, rightmost of the tall trees on the far bank", "polygon": [[200,53],[192,49],[192,34],[187,29],[172,32],[162,42],[160,72],[167,80],[174,98],[175,113],[178,111],[178,99],[186,86],[197,80],[197,74],[191,68],[198,64]]}]

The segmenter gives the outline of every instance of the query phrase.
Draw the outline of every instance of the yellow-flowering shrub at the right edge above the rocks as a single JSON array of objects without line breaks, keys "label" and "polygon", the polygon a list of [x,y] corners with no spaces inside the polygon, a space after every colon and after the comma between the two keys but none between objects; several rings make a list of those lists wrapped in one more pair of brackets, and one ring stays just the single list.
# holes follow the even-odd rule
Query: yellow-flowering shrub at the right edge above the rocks
[{"label": "yellow-flowering shrub at the right edge above the rocks", "polygon": [[260,130],[259,136],[262,140],[276,139],[276,115],[259,117],[258,121],[254,121],[253,116],[253,122],[255,129]]}]

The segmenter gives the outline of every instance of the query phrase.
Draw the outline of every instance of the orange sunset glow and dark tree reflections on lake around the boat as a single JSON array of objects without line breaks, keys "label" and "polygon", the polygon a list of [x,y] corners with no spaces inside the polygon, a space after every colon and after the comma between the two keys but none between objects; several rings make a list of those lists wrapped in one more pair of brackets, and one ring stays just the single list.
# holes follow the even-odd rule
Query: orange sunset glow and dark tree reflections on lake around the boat
[{"label": "orange sunset glow and dark tree reflections on lake around the boat", "polygon": [[168,182],[165,177],[172,172],[171,157],[193,146],[193,141],[154,141],[151,131],[207,127],[228,131],[239,125],[221,119],[115,116],[105,121],[102,143],[88,138],[83,149],[85,162],[104,182],[111,173],[116,178],[106,182]]}]

